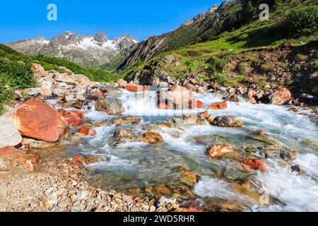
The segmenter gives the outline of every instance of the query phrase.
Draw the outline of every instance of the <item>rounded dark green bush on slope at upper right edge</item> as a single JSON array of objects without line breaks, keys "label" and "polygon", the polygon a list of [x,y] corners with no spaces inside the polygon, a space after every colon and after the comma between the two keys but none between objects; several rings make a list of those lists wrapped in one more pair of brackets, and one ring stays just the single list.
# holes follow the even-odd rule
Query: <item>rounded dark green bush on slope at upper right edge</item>
[{"label": "rounded dark green bush on slope at upper right edge", "polygon": [[290,35],[311,35],[318,29],[318,6],[301,6],[288,13],[285,28]]}]

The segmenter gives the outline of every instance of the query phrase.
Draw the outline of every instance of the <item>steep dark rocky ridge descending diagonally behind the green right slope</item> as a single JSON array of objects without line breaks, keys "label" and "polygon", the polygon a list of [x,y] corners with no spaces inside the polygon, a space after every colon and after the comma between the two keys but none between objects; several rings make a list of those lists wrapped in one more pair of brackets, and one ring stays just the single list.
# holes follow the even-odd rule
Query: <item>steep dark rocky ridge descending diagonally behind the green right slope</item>
[{"label": "steep dark rocky ridge descending diagonally behind the green right slope", "polygon": [[148,37],[147,40],[135,44],[128,57],[118,67],[119,70],[129,69],[146,62],[162,52],[175,50],[206,39],[211,32],[218,32],[230,25],[231,13],[240,12],[246,0],[224,1],[220,6],[213,6],[205,13],[187,20],[177,30],[160,36]]}]

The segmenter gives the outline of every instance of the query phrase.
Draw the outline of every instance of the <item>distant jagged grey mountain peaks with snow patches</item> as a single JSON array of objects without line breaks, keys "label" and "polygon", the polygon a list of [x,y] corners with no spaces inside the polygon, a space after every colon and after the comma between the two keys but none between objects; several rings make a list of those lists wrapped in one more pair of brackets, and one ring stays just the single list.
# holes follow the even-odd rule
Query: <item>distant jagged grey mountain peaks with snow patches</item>
[{"label": "distant jagged grey mountain peaks with snow patches", "polygon": [[45,40],[44,37],[37,37],[6,45],[23,54],[64,58],[82,66],[99,68],[102,64],[114,61],[117,55],[136,43],[138,40],[131,35],[108,40],[105,33],[100,31],[95,37],[64,32],[58,37],[52,37],[50,41]]}]

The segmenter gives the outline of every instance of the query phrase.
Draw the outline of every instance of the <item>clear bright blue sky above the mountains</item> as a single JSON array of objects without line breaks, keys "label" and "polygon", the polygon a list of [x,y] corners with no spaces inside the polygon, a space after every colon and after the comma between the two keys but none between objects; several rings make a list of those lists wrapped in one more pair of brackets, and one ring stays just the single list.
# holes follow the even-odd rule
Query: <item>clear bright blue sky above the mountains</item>
[{"label": "clear bright blue sky above the mountains", "polygon": [[[1,1],[0,42],[38,35],[49,40],[73,30],[95,35],[104,30],[110,39],[131,34],[139,40],[179,27],[184,20],[208,10],[219,0],[28,0]],[[57,4],[58,20],[47,20],[47,5]]]}]

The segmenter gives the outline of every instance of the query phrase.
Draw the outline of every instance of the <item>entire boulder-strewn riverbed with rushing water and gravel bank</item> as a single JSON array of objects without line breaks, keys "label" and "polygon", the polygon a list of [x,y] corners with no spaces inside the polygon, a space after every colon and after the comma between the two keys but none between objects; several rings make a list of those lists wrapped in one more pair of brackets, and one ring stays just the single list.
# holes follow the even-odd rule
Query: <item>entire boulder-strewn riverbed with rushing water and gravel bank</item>
[{"label": "entire boulder-strewn riverbed with rushing water and gravel bank", "polygon": [[1,210],[318,210],[317,107],[287,88],[33,69],[0,118]]}]

